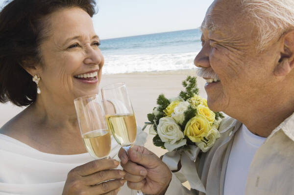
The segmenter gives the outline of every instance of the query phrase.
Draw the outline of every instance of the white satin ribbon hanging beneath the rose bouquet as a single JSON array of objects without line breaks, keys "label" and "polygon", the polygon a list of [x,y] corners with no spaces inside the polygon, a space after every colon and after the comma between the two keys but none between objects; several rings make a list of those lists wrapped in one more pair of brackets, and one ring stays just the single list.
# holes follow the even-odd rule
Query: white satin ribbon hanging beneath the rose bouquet
[{"label": "white satin ribbon hanging beneath the rose bouquet", "polygon": [[170,168],[170,170],[178,169],[178,162],[181,161],[182,168],[180,173],[175,173],[182,180],[188,180],[192,189],[206,193],[204,185],[200,180],[196,170],[196,157],[200,152],[197,146],[189,146],[189,150],[179,150],[167,152],[164,154],[162,161]]}]

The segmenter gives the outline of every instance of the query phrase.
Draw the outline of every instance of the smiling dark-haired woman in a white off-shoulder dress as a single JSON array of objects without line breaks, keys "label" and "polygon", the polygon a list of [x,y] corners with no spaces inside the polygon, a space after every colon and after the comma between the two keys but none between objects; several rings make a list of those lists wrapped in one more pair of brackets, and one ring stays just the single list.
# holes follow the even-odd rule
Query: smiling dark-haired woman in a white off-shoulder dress
[{"label": "smiling dark-haired woman in a white off-shoulder dress", "polygon": [[[87,153],[73,106],[98,93],[94,14],[94,0],[13,0],[0,12],[0,102],[29,105],[0,129],[0,194],[112,195],[123,186],[117,160]],[[119,148],[113,141],[110,156]]]}]

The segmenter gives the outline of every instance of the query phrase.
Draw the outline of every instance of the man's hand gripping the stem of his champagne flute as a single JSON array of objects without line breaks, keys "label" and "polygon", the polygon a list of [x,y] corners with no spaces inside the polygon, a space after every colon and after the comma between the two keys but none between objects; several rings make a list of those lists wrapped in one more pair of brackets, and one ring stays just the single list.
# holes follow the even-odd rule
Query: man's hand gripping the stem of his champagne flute
[{"label": "man's hand gripping the stem of his champagne flute", "polygon": [[142,146],[133,146],[128,155],[123,149],[119,152],[128,187],[146,194],[164,195],[172,180],[168,166]]}]

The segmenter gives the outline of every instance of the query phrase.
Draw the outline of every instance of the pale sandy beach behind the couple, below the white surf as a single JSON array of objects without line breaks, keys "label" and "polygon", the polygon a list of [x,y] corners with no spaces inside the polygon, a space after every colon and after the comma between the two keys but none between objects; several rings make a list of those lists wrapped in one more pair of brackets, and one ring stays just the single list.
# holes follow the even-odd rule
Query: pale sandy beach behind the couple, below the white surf
[{"label": "pale sandy beach behind the couple, below the white surf", "polygon": [[[164,93],[168,98],[177,96],[180,90],[183,89],[182,81],[187,75],[195,75],[195,73],[195,69],[192,69],[102,75],[100,86],[124,82],[129,91],[137,124],[143,127],[144,122],[147,122],[147,114],[156,106],[158,95]],[[200,96],[206,98],[204,90],[205,81],[202,78],[197,78],[197,82]],[[0,104],[0,126],[4,125],[23,109],[10,103]],[[145,131],[148,132],[148,128]],[[165,150],[153,146],[152,138],[153,136],[148,136],[145,146],[158,156],[164,154]]]}]

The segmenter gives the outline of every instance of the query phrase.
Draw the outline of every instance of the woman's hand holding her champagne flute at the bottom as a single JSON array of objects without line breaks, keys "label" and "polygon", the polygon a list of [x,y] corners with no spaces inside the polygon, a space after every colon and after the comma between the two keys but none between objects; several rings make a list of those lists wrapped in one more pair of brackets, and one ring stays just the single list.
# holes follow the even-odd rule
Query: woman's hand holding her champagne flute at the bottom
[{"label": "woman's hand holding her champagne flute at the bottom", "polygon": [[125,172],[115,169],[119,164],[103,159],[74,168],[68,173],[62,195],[116,195],[126,181],[122,179]]}]

